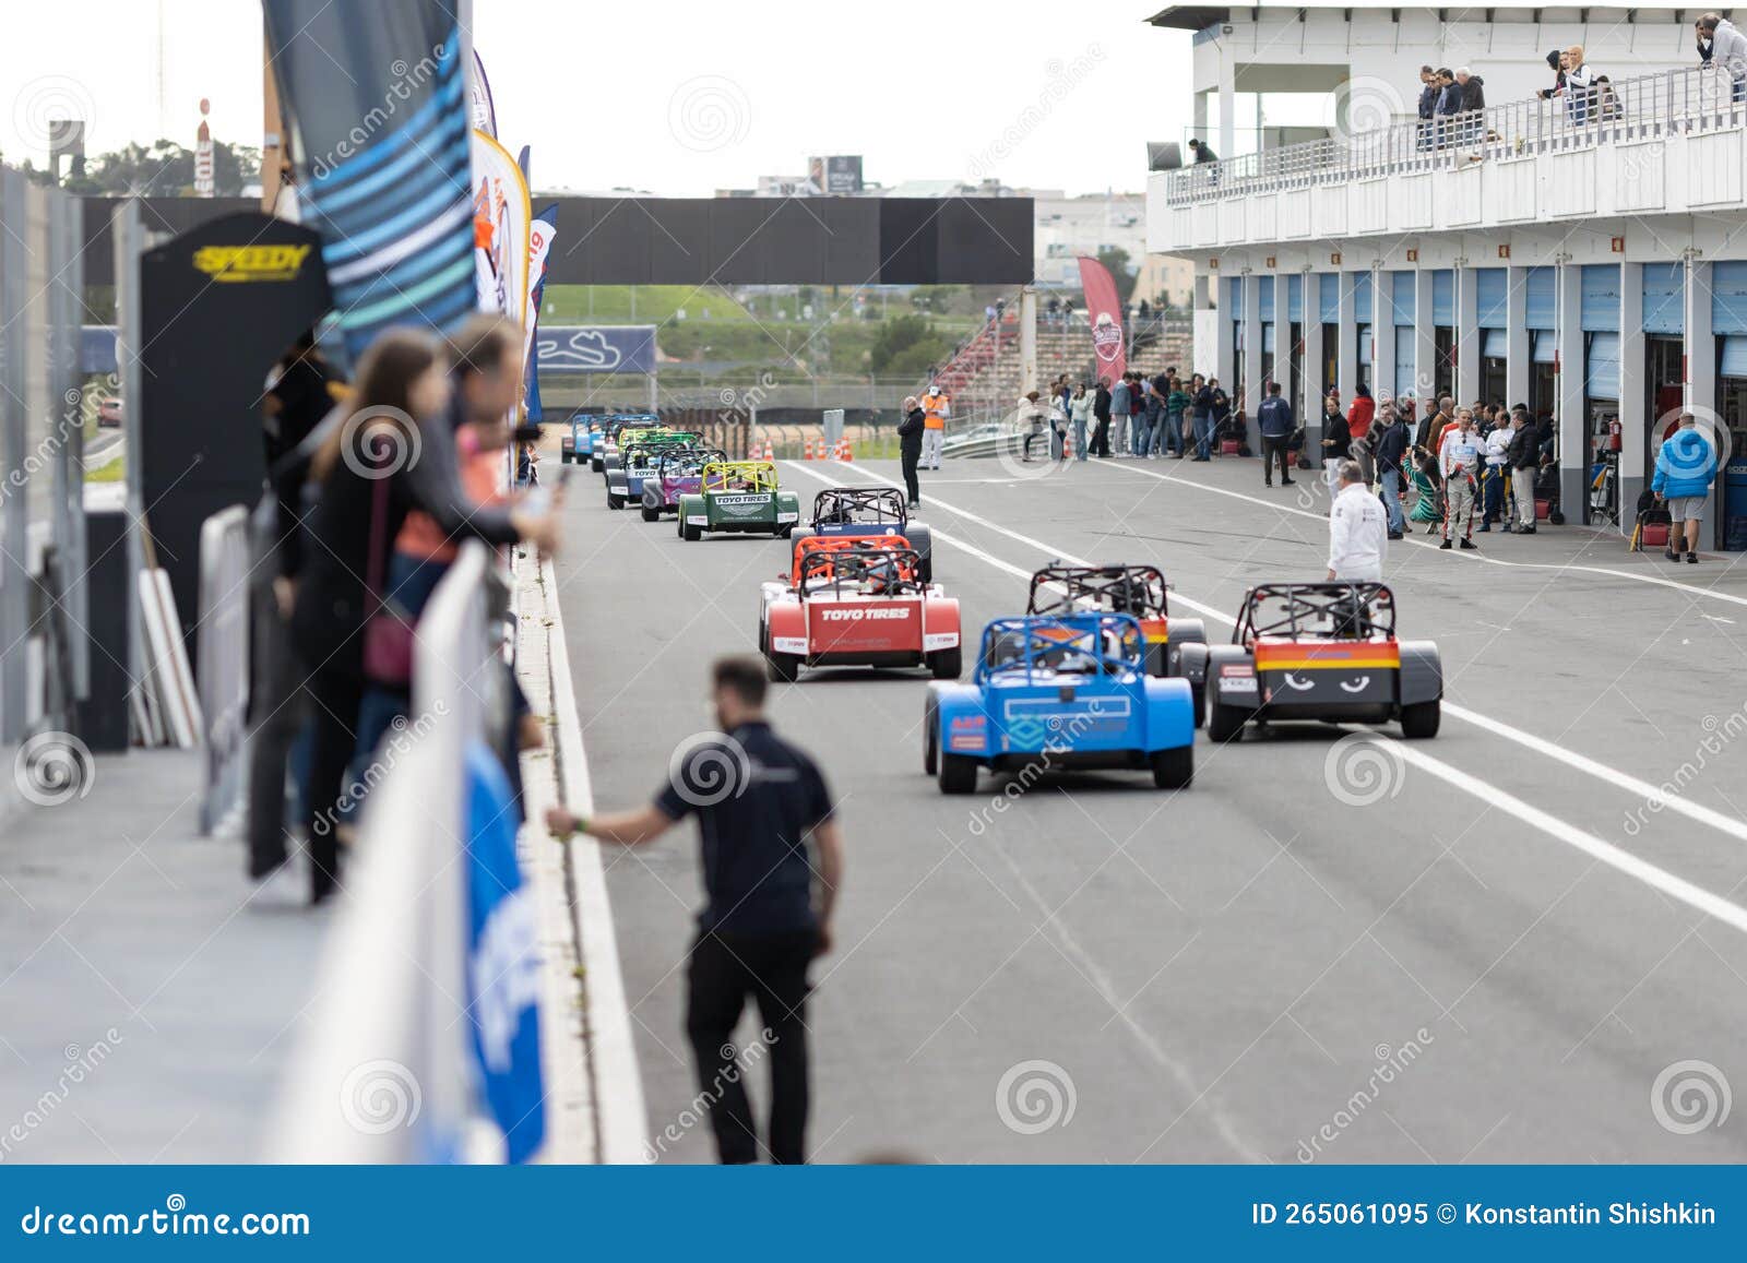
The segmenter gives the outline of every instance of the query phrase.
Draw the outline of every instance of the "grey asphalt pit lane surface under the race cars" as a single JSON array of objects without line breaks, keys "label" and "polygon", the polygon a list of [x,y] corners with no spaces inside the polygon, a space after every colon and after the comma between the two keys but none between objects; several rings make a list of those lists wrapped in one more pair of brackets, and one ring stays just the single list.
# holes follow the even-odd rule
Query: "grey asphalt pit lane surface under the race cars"
[{"label": "grey asphalt pit lane surface under the race cars", "polygon": [[[894,475],[781,466],[804,503]],[[1020,613],[1057,556],[1158,564],[1177,617],[1324,571],[1317,475],[924,477],[968,636]],[[1726,1085],[1747,1090],[1747,566],[1572,528],[1478,538],[1441,554],[1419,535],[1387,562],[1398,632],[1443,652],[1429,742],[1200,734],[1186,791],[1080,774],[996,811],[1003,779],[945,798],[922,774],[921,673],[772,687],[847,837],[809,1011],[816,1160],[1747,1160],[1742,1116],[1717,1120]],[[646,800],[711,727],[706,664],[755,648],[758,582],[784,559],[763,538],[683,543],[573,480],[557,576],[601,809]],[[660,1160],[708,1162],[681,1031],[695,828],[617,852],[608,891],[650,1134],[680,1135]]]}]

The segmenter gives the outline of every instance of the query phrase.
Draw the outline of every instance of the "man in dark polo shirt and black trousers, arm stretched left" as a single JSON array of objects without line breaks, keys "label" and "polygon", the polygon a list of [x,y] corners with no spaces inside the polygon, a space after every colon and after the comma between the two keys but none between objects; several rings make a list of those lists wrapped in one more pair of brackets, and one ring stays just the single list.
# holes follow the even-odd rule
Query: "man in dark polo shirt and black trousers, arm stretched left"
[{"label": "man in dark polo shirt and black trousers, arm stretched left", "polygon": [[692,943],[685,1032],[716,1153],[722,1162],[758,1160],[744,1069],[730,1043],[751,996],[770,1062],[767,1153],[798,1163],[807,1160],[807,966],[832,947],[842,832],[819,769],[765,721],[763,662],[718,659],[711,683],[722,732],[674,751],[655,802],[594,818],[554,807],[547,825],[638,845],[697,814],[708,901]]}]

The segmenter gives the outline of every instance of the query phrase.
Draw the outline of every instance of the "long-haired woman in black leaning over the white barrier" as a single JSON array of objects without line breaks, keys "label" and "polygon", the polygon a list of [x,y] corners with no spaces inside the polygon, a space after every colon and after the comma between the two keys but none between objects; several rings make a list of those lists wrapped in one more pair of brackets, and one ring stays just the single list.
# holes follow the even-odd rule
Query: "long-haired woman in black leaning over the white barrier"
[{"label": "long-haired woman in black leaning over the white barrier", "polygon": [[304,793],[311,901],[339,882],[341,781],[356,746],[365,681],[379,664],[407,666],[411,627],[386,589],[395,536],[421,508],[454,538],[526,540],[550,550],[557,524],[517,508],[472,503],[456,477],[442,344],[421,332],[383,334],[358,363],[348,412],[314,454],[320,500],[309,514],[292,638],[313,706],[314,741]]}]

